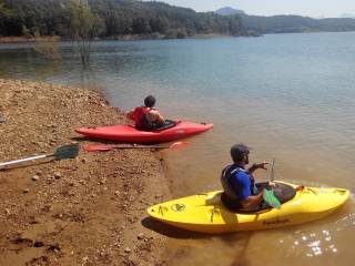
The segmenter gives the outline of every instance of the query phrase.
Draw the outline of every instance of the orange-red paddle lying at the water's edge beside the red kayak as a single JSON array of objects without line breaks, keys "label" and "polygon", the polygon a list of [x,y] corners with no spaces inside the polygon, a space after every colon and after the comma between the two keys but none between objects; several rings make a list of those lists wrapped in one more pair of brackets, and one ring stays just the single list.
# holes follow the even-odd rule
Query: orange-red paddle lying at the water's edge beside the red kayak
[{"label": "orange-red paddle lying at the water's edge beside the red kayak", "polygon": [[171,145],[104,145],[104,144],[88,144],[82,149],[87,152],[106,152],[115,149],[176,149],[189,145],[189,142],[174,142]]}]

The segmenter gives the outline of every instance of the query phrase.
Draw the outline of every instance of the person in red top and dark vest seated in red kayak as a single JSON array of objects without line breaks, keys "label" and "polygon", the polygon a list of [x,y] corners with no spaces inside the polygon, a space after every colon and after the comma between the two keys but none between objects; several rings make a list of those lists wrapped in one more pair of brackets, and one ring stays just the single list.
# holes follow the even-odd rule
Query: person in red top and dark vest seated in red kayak
[{"label": "person in red top and dark vest seated in red kayak", "polygon": [[154,105],[155,98],[149,95],[144,99],[144,106],[136,106],[126,114],[130,120],[134,121],[135,129],[140,131],[153,131],[164,125],[165,120],[159,111],[154,109]]}]

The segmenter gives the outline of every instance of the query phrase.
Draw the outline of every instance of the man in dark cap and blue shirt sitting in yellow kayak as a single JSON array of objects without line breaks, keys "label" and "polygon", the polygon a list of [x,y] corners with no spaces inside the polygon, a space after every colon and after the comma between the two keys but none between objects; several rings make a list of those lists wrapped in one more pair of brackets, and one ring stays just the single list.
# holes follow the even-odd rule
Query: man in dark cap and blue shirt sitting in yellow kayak
[{"label": "man in dark cap and blue shirt sitting in yellow kayak", "polygon": [[[221,182],[224,190],[224,197],[233,202],[234,208],[242,211],[254,211],[263,202],[263,191],[257,191],[254,184],[253,173],[263,168],[266,170],[267,162],[254,163],[247,170],[250,147],[243,143],[231,147],[233,164],[222,171]],[[273,185],[273,184],[270,184]]]}]

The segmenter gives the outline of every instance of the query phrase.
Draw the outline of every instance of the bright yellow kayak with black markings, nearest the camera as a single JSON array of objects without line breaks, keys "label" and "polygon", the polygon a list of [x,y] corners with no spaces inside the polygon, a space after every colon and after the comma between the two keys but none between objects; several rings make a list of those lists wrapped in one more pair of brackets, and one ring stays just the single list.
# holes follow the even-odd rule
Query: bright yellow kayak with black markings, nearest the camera
[{"label": "bright yellow kayak with black markings, nearest the camera", "polygon": [[[285,182],[277,184],[300,188]],[[164,202],[149,207],[148,214],[163,223],[207,234],[268,229],[323,218],[345,203],[349,191],[302,186],[294,190],[292,198],[280,209],[266,208],[253,213],[226,208],[221,195],[221,191],[215,191]]]}]

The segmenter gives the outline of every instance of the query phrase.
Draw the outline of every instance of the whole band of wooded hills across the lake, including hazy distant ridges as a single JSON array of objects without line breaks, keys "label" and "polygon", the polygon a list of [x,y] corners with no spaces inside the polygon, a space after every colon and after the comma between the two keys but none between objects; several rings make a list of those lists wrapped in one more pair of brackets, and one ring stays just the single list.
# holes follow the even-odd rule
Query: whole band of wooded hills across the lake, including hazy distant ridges
[{"label": "whole band of wooded hills across the lake, including hazy distant ridges", "polygon": [[[80,0],[0,0],[0,37],[60,35],[70,38],[70,2]],[[84,0],[81,0],[84,1]],[[312,19],[301,16],[221,16],[195,12],[156,1],[88,0],[100,19],[100,37],[148,35],[185,38],[195,34],[254,34],[310,31],[355,31],[355,19]]]}]

